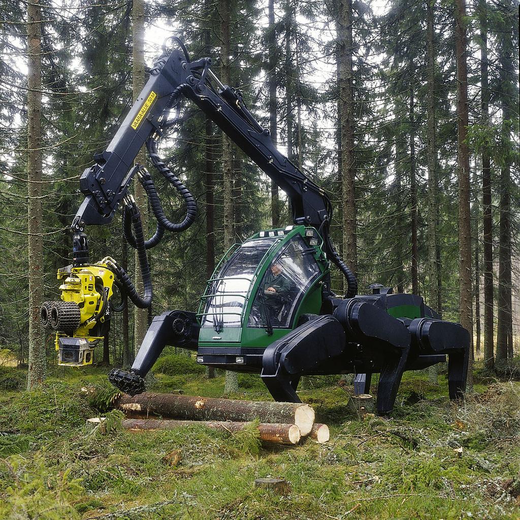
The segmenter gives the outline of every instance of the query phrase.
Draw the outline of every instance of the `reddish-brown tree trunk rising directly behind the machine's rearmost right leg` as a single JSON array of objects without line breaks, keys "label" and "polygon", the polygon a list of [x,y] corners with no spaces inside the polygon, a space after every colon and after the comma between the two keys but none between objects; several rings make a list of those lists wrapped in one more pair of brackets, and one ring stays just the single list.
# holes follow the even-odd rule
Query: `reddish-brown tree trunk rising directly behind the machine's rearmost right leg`
[{"label": "reddish-brown tree trunk rising directly behind the machine's rearmost right leg", "polygon": [[[456,0],[455,54],[457,61],[457,173],[459,179],[459,320],[473,337],[472,276],[471,276],[471,215],[470,215],[470,152],[467,148],[467,63],[466,4]],[[467,389],[473,389],[473,349],[467,369]]]}]

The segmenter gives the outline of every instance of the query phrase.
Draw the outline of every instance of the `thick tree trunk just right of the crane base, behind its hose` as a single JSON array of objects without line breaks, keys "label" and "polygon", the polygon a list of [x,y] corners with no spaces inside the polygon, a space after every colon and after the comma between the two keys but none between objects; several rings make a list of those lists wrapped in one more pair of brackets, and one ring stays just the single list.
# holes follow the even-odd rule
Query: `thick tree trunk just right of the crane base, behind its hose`
[{"label": "thick tree trunk just right of the crane base, behind its hose", "polygon": [[[343,258],[354,274],[357,271],[356,198],[354,159],[354,93],[352,68],[352,0],[339,0],[339,95],[343,193]],[[348,283],[343,279],[343,290]]]}]

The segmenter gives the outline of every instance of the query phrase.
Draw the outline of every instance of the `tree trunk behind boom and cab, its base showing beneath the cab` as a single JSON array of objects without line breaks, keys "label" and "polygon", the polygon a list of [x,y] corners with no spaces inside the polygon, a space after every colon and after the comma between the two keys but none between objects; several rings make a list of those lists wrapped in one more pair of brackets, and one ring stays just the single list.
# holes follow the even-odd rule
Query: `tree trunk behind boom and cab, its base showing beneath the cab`
[{"label": "tree trunk behind boom and cab, its base showing beneath the cab", "polygon": [[[222,41],[221,59],[222,59],[222,82],[225,85],[230,83],[230,62],[231,53],[229,41],[229,23],[230,23],[230,0],[223,0],[218,4],[220,15],[220,41]],[[223,192],[224,192],[224,249],[227,251],[235,242],[235,211],[233,210],[233,151],[231,148],[231,140],[223,132],[222,133],[222,176],[223,176]],[[224,394],[228,395],[238,391],[238,374],[230,370],[226,371],[226,380],[224,383]]]}]

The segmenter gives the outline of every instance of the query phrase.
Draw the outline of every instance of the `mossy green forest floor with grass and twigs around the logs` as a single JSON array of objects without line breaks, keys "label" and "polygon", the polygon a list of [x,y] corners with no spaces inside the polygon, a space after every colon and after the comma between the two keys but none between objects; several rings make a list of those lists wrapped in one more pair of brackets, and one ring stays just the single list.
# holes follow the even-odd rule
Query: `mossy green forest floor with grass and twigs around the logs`
[{"label": "mossy green forest floor with grass and twigs around the logs", "polygon": [[[102,385],[106,369],[59,369],[31,393],[12,389],[15,370],[0,394],[0,431],[13,432],[0,436],[0,518],[520,517],[520,383],[476,385],[455,405],[444,377],[435,387],[409,373],[391,419],[359,420],[345,408],[352,387],[311,379],[300,395],[331,441],[257,452],[251,433],[122,431],[118,412],[102,435],[85,426],[101,412],[81,389]],[[170,372],[154,389],[222,395],[222,376]],[[234,397],[269,399],[257,376],[240,381]],[[290,495],[254,487],[267,476],[287,479]]]}]

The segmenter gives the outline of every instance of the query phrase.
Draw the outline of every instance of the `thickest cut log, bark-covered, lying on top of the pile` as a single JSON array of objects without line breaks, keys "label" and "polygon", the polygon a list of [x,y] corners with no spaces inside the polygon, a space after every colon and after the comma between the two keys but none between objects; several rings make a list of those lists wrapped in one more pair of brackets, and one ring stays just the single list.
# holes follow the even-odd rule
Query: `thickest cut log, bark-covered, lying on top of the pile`
[{"label": "thickest cut log, bark-covered, lying on top of the pile", "polygon": [[301,402],[238,401],[211,397],[144,393],[114,400],[114,407],[132,417],[161,415],[170,419],[195,421],[296,424],[301,435],[308,435],[314,424],[314,410]]}]

